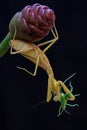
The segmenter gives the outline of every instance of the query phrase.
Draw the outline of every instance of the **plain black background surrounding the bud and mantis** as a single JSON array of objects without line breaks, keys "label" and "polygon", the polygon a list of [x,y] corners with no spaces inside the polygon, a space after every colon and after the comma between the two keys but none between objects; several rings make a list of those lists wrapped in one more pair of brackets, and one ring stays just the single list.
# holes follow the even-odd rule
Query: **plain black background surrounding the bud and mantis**
[{"label": "plain black background surrounding the bud and mantis", "polygon": [[36,77],[18,70],[17,65],[31,71],[34,66],[20,55],[10,55],[8,51],[0,59],[0,130],[86,129],[87,1],[3,0],[0,3],[0,40],[7,34],[12,16],[24,6],[37,2],[55,11],[60,39],[46,55],[57,80],[64,81],[76,72],[72,85],[74,93],[80,93],[80,96],[73,103],[78,103],[80,107],[68,107],[71,115],[64,112],[59,118],[56,117],[59,103],[43,103],[32,108],[32,105],[46,99],[47,74],[41,68],[38,68]]}]

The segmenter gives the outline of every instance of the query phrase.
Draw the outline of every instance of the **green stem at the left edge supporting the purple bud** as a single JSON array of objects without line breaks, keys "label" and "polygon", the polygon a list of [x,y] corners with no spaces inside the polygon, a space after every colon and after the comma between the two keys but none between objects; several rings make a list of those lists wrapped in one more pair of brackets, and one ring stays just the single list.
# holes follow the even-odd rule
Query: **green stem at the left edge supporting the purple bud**
[{"label": "green stem at the left edge supporting the purple bud", "polygon": [[3,39],[3,41],[0,43],[0,57],[4,56],[5,53],[9,50],[10,45],[9,41],[11,39],[10,33],[6,35],[6,37]]}]

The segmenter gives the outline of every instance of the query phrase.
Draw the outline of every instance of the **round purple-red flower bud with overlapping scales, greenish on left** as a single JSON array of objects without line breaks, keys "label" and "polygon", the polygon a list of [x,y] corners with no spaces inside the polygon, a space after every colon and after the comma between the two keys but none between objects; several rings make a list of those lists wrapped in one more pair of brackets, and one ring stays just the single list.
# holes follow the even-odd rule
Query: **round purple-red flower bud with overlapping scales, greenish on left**
[{"label": "round purple-red flower bud with overlapping scales, greenish on left", "polygon": [[26,6],[14,15],[9,31],[12,36],[17,31],[15,39],[36,42],[48,35],[54,22],[54,11],[48,6],[36,3]]}]

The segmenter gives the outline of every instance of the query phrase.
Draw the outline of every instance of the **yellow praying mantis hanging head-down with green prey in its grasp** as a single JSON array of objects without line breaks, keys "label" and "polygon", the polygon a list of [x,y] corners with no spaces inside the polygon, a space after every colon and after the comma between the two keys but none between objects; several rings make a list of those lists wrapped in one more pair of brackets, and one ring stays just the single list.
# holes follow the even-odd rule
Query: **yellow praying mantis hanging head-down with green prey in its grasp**
[{"label": "yellow praying mantis hanging head-down with green prey in its grasp", "polygon": [[[15,29],[16,30],[16,29]],[[38,66],[43,68],[48,75],[48,86],[47,86],[47,97],[46,102],[49,102],[51,99],[53,99],[55,102],[59,101],[61,103],[59,108],[59,115],[66,109],[66,105],[69,106],[76,106],[77,104],[71,105],[67,104],[68,100],[75,100],[75,95],[72,94],[72,89],[69,90],[65,82],[57,81],[54,77],[54,73],[52,70],[52,67],[50,65],[50,62],[45,54],[45,52],[58,40],[58,32],[56,29],[56,26],[54,24],[53,29],[51,29],[51,33],[53,35],[53,39],[40,43],[38,45],[35,45],[34,43],[28,43],[26,41],[22,40],[13,40],[10,41],[11,50],[10,53],[13,54],[21,54],[31,62],[35,64],[35,70],[34,73],[28,71],[25,68],[17,66],[17,68],[26,71],[32,76],[35,76],[37,73]],[[16,31],[15,34],[16,35]],[[43,50],[40,49],[41,46],[47,45]],[[15,50],[15,51],[13,51]],[[62,92],[63,91],[63,92]]]}]

